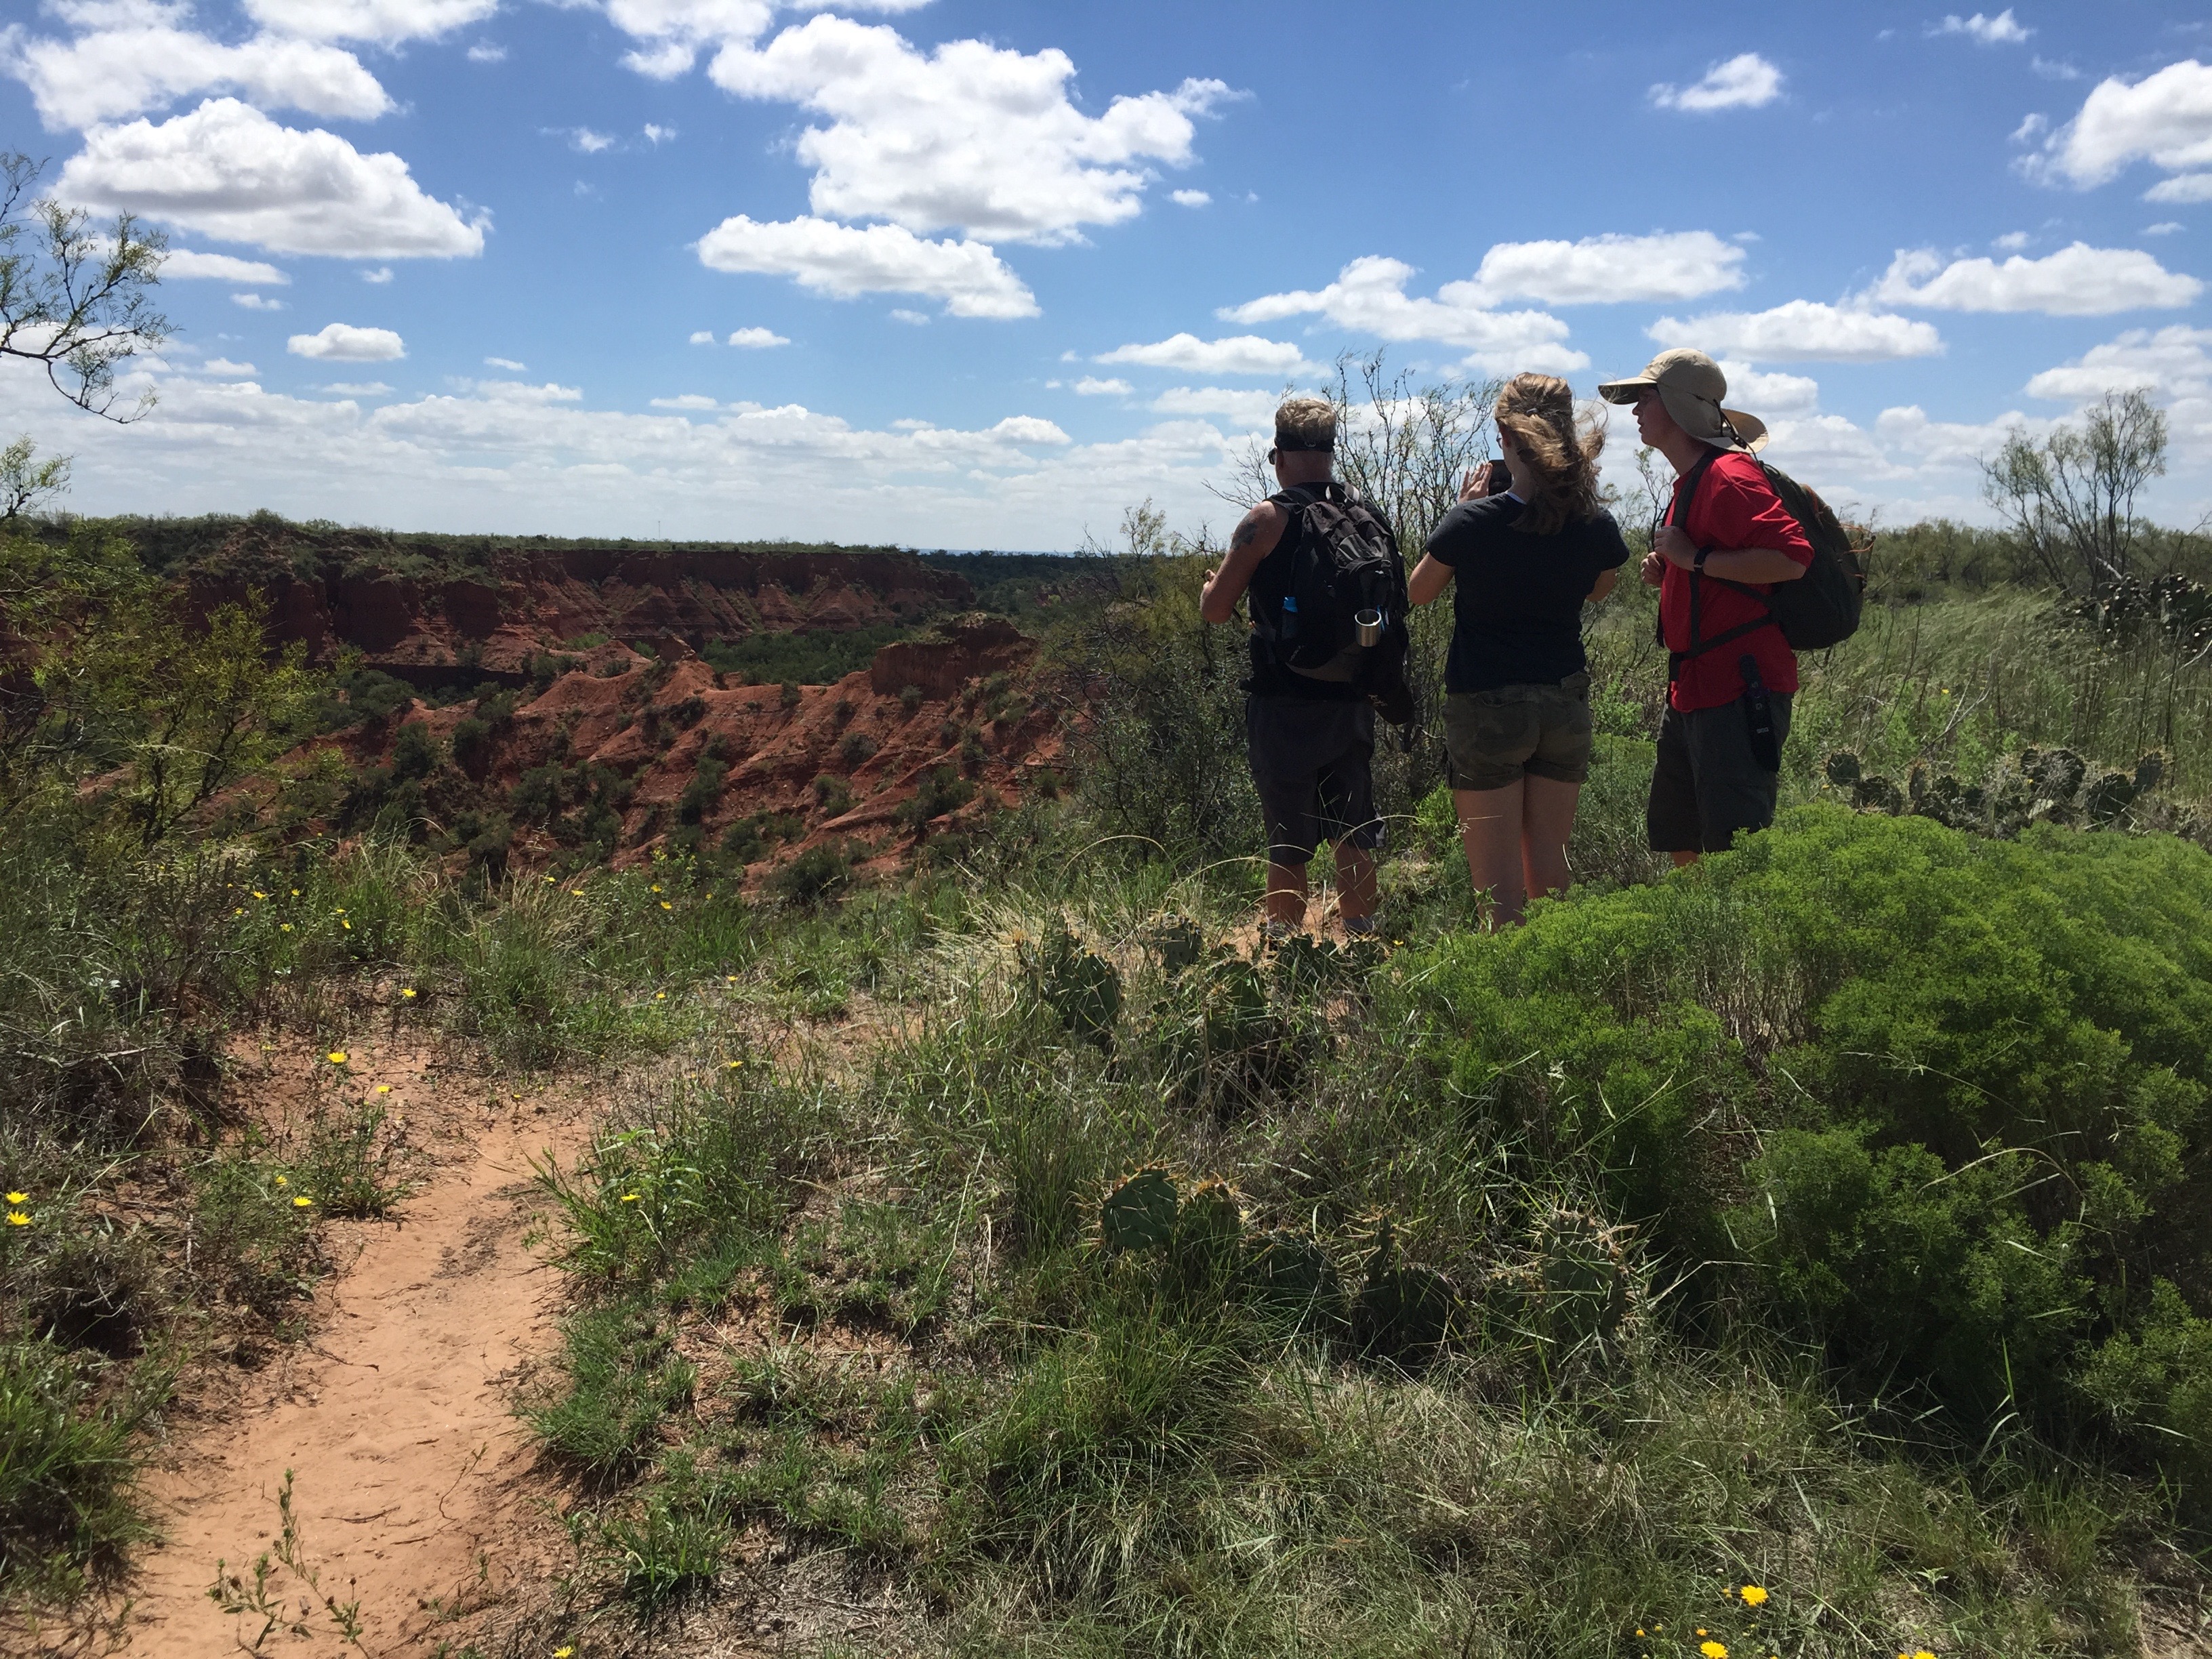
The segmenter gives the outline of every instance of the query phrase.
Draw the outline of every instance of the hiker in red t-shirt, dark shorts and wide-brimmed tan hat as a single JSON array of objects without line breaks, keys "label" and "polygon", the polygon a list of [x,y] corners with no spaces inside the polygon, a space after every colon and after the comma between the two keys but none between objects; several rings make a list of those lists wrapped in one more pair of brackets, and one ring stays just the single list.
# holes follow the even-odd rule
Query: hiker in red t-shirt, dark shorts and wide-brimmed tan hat
[{"label": "hiker in red t-shirt, dark shorts and wide-brimmed tan hat", "polygon": [[1674,502],[1644,555],[1659,588],[1668,708],[1646,812],[1650,845],[1677,865],[1774,823],[1796,653],[1759,595],[1796,582],[1812,542],[1752,451],[1765,427],[1723,409],[1728,376],[1703,352],[1661,352],[1632,380],[1597,387],[1637,411],[1637,434],[1674,469]]}]

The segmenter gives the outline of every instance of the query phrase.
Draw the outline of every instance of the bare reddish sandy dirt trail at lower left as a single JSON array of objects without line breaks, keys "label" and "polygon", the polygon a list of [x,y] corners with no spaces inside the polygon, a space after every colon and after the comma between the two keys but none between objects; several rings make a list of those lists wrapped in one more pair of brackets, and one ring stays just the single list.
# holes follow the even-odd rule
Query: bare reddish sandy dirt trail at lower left
[{"label": "bare reddish sandy dirt trail at lower left", "polygon": [[[133,1584],[133,1659],[458,1650],[469,1613],[557,1568],[553,1486],[531,1475],[513,1389],[553,1349],[560,1285],[522,1234],[540,1208],[529,1159],[568,1161],[584,1126],[573,1110],[476,1108],[445,1139],[398,1223],[332,1225],[341,1272],[312,1338],[177,1425],[175,1458],[148,1482],[164,1544]],[[288,1469],[321,1588],[276,1566],[270,1599],[290,1624],[254,1646],[265,1617],[226,1613],[208,1586],[217,1559],[252,1586],[254,1557],[279,1542]],[[323,1597],[358,1599],[361,1646]]]}]

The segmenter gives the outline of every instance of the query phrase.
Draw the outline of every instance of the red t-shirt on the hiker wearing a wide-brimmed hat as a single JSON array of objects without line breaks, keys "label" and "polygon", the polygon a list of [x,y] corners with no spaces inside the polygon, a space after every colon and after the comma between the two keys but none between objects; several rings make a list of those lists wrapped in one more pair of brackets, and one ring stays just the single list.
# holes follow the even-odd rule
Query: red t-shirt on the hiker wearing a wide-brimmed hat
[{"label": "red t-shirt on the hiker wearing a wide-brimmed hat", "polygon": [[[1798,564],[1812,564],[1812,542],[1790,518],[1774,487],[1767,484],[1759,462],[1741,451],[1721,453],[1697,487],[1697,500],[1681,511],[1681,484],[1674,484],[1674,522],[1690,540],[1710,553],[1741,553],[1747,546],[1763,546],[1787,553]],[[1668,650],[1690,648],[1690,584],[1697,582],[1697,637],[1712,639],[1745,622],[1765,617],[1765,606],[1747,593],[1710,577],[1699,580],[1679,564],[1666,566],[1659,584],[1659,628]],[[1759,593],[1772,593],[1772,584],[1754,582]],[[1674,675],[1668,697],[1674,708],[1721,708],[1743,697],[1743,670],[1736,659],[1750,655],[1759,664],[1759,679],[1772,692],[1796,690],[1796,653],[1783,639],[1781,628],[1756,628],[1741,639],[1730,639],[1719,650],[1690,657]]]}]

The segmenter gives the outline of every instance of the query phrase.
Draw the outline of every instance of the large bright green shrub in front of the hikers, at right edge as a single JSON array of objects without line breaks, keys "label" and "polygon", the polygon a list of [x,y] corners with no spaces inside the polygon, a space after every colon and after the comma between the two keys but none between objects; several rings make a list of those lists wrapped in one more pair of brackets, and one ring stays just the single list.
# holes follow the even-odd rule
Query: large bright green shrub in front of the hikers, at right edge
[{"label": "large bright green shrub in front of the hikers, at right edge", "polygon": [[1803,807],[1442,945],[1416,1006],[1453,1091],[1588,1159],[1708,1305],[1743,1287],[1869,1385],[2048,1418],[2197,1340],[2152,1283],[2197,1261],[2208,918],[2212,856],[2172,838]]}]

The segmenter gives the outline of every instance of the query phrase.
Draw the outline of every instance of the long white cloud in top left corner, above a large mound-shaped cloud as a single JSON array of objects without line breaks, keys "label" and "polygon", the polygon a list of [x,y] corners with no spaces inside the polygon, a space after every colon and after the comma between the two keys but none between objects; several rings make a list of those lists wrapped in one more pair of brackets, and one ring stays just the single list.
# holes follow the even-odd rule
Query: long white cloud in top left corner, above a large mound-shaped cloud
[{"label": "long white cloud in top left corner, above a large mound-shaped cloud", "polygon": [[204,91],[237,91],[257,104],[356,122],[392,108],[376,75],[349,51],[274,35],[226,46],[173,27],[161,13],[69,42],[15,42],[0,55],[0,69],[31,88],[49,128],[86,128]]}]

